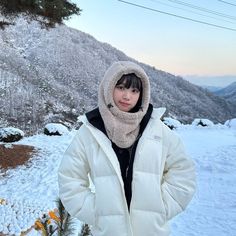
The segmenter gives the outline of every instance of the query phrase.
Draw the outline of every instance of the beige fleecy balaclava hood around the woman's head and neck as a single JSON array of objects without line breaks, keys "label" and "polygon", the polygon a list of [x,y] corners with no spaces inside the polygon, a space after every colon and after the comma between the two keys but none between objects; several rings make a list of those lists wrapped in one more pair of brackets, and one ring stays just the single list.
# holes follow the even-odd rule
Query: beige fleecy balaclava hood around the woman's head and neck
[{"label": "beige fleecy balaclava hood around the woman's head and neck", "polygon": [[[113,91],[117,81],[126,74],[134,73],[142,82],[142,102],[137,112],[121,111],[114,103]],[[130,147],[139,133],[142,118],[150,100],[149,79],[144,70],[130,61],[115,62],[106,71],[98,93],[98,107],[109,139],[120,148]]]}]

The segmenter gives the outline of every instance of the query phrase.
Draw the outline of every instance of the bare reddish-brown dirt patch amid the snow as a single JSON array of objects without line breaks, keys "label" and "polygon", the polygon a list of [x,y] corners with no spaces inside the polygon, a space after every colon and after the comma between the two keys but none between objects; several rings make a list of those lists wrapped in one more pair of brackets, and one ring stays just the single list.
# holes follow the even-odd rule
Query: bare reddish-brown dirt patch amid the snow
[{"label": "bare reddish-brown dirt patch amid the snow", "polygon": [[16,168],[26,164],[37,152],[33,146],[0,144],[0,168]]}]

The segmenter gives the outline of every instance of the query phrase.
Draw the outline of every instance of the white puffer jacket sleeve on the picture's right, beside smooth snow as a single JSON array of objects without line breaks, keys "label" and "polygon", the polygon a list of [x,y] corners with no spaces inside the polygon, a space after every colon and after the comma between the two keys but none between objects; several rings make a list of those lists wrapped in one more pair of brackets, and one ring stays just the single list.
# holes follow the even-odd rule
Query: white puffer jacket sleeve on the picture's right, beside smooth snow
[{"label": "white puffer jacket sleeve on the picture's right, beside smooth snow", "polygon": [[[168,129],[168,128],[167,128]],[[181,139],[167,130],[167,159],[161,185],[167,220],[182,212],[195,192],[195,168]]]}]

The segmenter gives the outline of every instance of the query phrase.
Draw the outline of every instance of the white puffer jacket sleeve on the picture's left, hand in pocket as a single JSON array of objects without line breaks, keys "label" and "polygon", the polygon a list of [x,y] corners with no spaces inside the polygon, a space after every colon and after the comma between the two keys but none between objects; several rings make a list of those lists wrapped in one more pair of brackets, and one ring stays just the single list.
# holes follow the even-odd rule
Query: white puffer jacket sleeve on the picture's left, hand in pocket
[{"label": "white puffer jacket sleeve on the picture's left, hand in pocket", "polygon": [[71,216],[94,225],[95,195],[89,188],[90,169],[82,138],[79,130],[62,158],[58,171],[59,197]]}]

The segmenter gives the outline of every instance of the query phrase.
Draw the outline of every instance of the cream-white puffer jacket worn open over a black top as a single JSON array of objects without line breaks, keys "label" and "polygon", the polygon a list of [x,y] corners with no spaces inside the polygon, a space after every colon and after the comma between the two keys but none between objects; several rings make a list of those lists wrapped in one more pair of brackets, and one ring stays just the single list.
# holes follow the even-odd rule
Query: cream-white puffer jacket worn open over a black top
[{"label": "cream-white puffer jacket worn open over a black top", "polygon": [[59,192],[66,210],[90,224],[93,236],[169,235],[168,221],[191,200],[194,164],[179,137],[160,121],[162,113],[153,110],[136,149],[130,212],[110,140],[81,117],[84,124],[59,167]]}]

